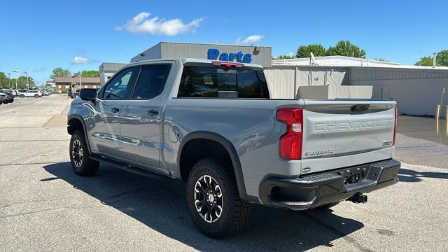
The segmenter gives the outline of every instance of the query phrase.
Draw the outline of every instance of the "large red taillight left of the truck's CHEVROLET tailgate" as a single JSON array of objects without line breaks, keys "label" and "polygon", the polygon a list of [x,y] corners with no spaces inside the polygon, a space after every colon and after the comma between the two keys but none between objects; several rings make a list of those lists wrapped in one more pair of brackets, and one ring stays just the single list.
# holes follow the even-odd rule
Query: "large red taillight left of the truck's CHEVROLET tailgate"
[{"label": "large red taillight left of the truck's CHEVROLET tailgate", "polygon": [[288,160],[300,160],[302,158],[302,109],[279,109],[277,120],[286,123],[288,130],[280,137],[280,156]]}]

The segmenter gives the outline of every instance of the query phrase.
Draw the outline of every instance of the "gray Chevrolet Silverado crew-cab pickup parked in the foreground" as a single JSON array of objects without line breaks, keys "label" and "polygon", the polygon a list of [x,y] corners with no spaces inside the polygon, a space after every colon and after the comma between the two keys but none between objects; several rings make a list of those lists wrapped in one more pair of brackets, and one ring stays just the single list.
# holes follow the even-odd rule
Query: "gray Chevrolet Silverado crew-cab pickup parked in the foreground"
[{"label": "gray Chevrolet Silverado crew-cab pickup parked in the foreground", "polygon": [[81,90],[68,116],[76,174],[108,162],[186,181],[191,218],[209,237],[244,228],[252,203],[366,202],[398,181],[395,102],[272,99],[255,64],[129,64],[101,89]]}]

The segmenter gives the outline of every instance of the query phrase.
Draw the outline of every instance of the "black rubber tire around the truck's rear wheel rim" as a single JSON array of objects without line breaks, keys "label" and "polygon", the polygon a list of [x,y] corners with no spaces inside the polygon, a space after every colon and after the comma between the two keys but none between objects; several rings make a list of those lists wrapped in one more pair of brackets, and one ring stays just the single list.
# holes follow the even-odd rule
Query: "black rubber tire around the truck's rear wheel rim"
[{"label": "black rubber tire around the truck's rear wheel rim", "polygon": [[[212,223],[202,218],[195,205],[196,182],[204,175],[211,176],[218,183],[222,193],[221,216]],[[243,230],[251,213],[251,204],[239,197],[232,167],[225,167],[223,162],[214,158],[204,158],[191,169],[187,181],[187,200],[193,223],[204,235],[212,238],[235,235]]]}]

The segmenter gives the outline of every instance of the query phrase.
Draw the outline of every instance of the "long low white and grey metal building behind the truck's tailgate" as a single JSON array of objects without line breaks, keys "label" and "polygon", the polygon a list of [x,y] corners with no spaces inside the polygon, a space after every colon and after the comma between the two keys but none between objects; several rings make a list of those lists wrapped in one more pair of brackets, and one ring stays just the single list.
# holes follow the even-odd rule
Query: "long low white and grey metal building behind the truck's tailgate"
[{"label": "long low white and grey metal building behind the truck's tailgate", "polygon": [[328,56],[276,59],[272,61],[272,67],[265,70],[265,75],[270,90],[279,98],[297,97],[300,86],[370,85],[373,87],[372,98],[395,99],[400,113],[414,116],[434,116],[441,99],[443,116],[448,100],[446,66],[408,66]]}]

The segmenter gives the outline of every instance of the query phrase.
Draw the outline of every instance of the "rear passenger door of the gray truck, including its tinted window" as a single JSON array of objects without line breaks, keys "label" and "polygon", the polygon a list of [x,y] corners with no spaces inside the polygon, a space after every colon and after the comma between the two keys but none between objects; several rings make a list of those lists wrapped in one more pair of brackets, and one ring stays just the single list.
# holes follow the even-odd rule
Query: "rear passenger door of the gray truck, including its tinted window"
[{"label": "rear passenger door of the gray truck, including its tinted window", "polygon": [[160,128],[165,95],[162,92],[171,64],[141,66],[139,78],[121,111],[121,149],[131,163],[160,167]]}]

